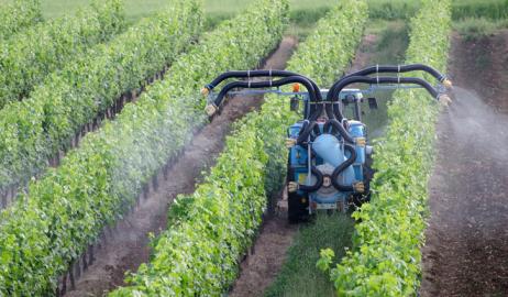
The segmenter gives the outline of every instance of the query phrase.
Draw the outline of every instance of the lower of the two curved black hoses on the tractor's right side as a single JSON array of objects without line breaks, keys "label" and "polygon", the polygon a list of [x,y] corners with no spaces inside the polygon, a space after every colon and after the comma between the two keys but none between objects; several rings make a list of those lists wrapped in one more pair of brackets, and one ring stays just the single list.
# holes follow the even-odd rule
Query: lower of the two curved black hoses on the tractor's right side
[{"label": "lower of the two curved black hoses on the tractor's right side", "polygon": [[[417,78],[417,77],[368,77],[368,76],[346,76],[341,78],[335,84],[333,84],[332,88],[329,90],[327,96],[327,101],[338,101],[339,95],[346,86],[362,82],[362,84],[413,84],[423,87],[433,98],[438,98],[438,90],[434,89],[429,82],[424,79]],[[342,112],[338,112],[338,120],[342,121],[343,114]]]}]

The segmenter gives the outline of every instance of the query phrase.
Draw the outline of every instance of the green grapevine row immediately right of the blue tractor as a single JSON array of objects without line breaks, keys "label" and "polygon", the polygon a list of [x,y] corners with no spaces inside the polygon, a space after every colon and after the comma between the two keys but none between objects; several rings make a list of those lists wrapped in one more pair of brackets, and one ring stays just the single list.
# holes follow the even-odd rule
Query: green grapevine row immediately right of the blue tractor
[{"label": "green grapevine row immediately right of the blue tractor", "polygon": [[[422,1],[411,20],[407,63],[446,68],[450,7],[450,1]],[[331,271],[339,296],[417,295],[438,111],[427,92],[396,92],[386,138],[375,147],[372,202],[353,215],[361,220],[355,249]]]}]

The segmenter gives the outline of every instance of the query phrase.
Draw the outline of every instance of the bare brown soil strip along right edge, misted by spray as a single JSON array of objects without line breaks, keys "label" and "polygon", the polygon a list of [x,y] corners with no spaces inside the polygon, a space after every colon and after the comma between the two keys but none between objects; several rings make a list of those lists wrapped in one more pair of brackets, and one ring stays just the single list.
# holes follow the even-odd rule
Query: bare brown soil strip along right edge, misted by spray
[{"label": "bare brown soil strip along right edge, misted by spray", "polygon": [[508,295],[508,32],[453,37],[455,103],[438,125],[421,296]]}]

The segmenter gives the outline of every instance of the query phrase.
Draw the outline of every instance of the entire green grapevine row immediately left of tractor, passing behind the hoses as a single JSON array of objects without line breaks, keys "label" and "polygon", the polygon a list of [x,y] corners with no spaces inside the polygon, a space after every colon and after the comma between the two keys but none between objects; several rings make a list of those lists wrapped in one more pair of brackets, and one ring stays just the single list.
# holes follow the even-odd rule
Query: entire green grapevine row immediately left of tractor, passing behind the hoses
[{"label": "entire green grapevine row immediately left of tractor, passing behind the hoses", "polygon": [[[289,68],[331,84],[360,43],[364,15],[365,2],[341,1],[299,47]],[[323,67],[309,65],[317,56]],[[270,97],[259,112],[238,122],[205,183],[173,204],[168,230],[154,243],[150,264],[128,277],[130,287],[110,296],[220,296],[227,290],[261,223],[266,194],[281,186],[285,131],[297,119],[286,100]]]}]

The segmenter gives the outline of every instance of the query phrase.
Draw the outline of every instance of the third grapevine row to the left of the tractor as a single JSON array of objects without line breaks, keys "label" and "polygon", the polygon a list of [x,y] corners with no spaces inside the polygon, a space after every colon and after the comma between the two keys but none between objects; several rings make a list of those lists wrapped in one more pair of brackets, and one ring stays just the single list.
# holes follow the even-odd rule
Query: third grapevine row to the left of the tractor
[{"label": "third grapevine row to the left of the tractor", "polygon": [[85,124],[175,61],[201,23],[196,2],[174,1],[48,76],[27,99],[0,110],[0,193],[42,173]]}]

